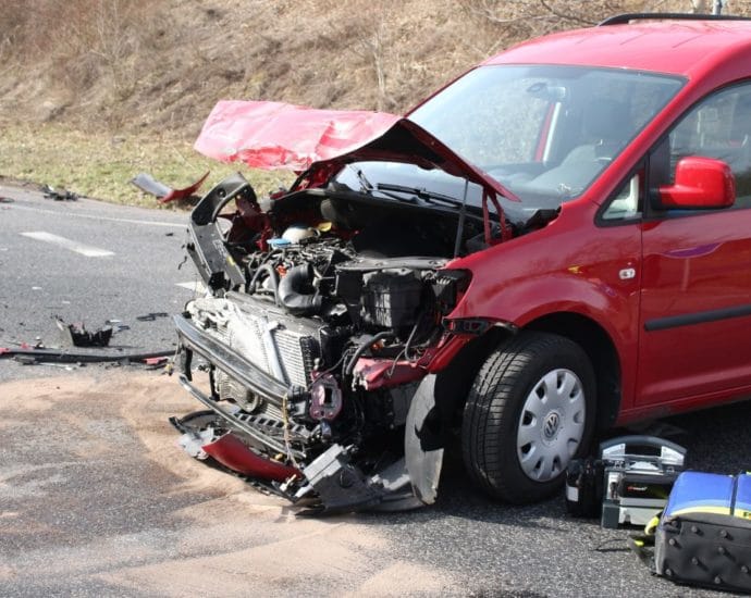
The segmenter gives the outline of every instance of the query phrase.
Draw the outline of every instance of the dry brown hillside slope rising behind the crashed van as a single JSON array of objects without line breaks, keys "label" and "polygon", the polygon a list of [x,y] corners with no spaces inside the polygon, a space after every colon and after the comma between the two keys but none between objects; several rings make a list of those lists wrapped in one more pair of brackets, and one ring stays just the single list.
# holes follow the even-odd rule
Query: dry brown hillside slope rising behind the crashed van
[{"label": "dry brown hillside slope rising behind the crashed van", "polygon": [[[0,114],[192,138],[218,99],[403,112],[526,37],[701,2],[5,0]],[[711,4],[711,2],[704,2]],[[736,0],[734,12],[748,2]]]}]

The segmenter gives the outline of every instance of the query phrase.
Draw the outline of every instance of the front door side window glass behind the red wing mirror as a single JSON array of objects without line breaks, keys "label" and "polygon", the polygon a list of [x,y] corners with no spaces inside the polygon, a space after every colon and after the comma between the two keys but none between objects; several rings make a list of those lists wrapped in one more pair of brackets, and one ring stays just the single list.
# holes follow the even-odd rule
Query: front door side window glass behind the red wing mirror
[{"label": "front door side window glass behind the red wing mirror", "polygon": [[714,94],[693,108],[668,137],[669,179],[687,155],[726,162],[736,177],[735,209],[751,208],[751,84]]}]

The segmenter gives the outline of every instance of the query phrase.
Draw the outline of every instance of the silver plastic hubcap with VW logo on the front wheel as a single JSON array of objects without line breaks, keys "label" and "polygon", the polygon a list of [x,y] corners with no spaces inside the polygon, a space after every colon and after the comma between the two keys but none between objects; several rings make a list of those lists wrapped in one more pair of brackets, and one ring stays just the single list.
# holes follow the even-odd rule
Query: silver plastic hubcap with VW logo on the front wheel
[{"label": "silver plastic hubcap with VW logo on the front wheel", "polygon": [[570,370],[553,370],[532,387],[521,408],[516,452],[521,471],[547,482],[564,471],[584,434],[586,398]]}]

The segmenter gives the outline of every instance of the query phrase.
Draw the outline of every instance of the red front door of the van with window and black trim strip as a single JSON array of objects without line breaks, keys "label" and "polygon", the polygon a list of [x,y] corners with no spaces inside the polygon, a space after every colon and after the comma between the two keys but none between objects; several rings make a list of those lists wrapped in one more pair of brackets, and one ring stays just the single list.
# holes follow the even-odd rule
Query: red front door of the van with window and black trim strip
[{"label": "red front door of the van with window and black trim strip", "polygon": [[663,210],[642,222],[636,402],[712,404],[751,387],[751,85],[709,96],[650,155],[650,195],[681,158],[732,170],[737,199],[722,210]]}]

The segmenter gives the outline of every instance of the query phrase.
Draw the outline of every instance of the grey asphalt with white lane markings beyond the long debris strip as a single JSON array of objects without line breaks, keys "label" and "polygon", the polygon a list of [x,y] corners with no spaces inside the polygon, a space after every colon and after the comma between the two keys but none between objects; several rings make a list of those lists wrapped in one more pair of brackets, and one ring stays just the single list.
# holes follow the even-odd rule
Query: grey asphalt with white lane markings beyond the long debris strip
[{"label": "grey asphalt with white lane markings beyond the long debris strip", "polygon": [[[56,316],[89,331],[127,326],[113,352],[174,346],[163,314],[178,312],[197,281],[192,263],[181,267],[185,212],[53,201],[13,187],[0,187],[0,347],[60,346]],[[7,375],[0,367],[0,379]]]}]

